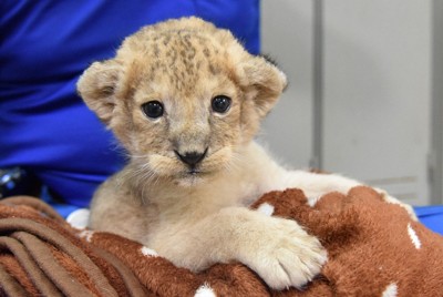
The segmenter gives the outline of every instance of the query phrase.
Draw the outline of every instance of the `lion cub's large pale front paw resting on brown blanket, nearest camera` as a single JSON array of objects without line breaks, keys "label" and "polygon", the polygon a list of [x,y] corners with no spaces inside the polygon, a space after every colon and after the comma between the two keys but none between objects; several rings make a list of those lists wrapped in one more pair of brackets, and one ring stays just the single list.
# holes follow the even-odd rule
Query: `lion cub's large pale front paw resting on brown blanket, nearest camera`
[{"label": "lion cub's large pale front paw resting on brown blanket, nearest camera", "polygon": [[274,289],[300,288],[320,273],[327,252],[296,222],[271,218],[274,224],[256,238],[257,246],[249,254],[254,257],[244,263]]}]

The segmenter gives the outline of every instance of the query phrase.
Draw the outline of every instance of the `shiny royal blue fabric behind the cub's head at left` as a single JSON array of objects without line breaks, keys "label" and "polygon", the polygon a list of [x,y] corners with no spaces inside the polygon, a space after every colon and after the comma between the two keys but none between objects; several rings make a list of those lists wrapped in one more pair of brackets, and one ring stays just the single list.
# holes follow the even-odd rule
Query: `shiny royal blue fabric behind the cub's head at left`
[{"label": "shiny royal blue fabric behind the cub's head at left", "polygon": [[184,16],[229,28],[259,52],[259,0],[3,0],[0,16],[0,167],[27,167],[76,206],[124,163],[75,94],[91,62],[140,27]]}]

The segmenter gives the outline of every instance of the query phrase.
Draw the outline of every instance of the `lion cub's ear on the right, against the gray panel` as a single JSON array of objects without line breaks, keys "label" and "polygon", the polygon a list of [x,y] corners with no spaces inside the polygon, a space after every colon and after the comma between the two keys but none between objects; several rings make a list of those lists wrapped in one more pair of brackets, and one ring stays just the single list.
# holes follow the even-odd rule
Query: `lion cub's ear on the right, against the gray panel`
[{"label": "lion cub's ear on the right, against the gray panel", "polygon": [[247,96],[255,102],[257,113],[264,117],[272,109],[287,85],[282,71],[262,57],[251,57],[243,63],[247,81]]}]

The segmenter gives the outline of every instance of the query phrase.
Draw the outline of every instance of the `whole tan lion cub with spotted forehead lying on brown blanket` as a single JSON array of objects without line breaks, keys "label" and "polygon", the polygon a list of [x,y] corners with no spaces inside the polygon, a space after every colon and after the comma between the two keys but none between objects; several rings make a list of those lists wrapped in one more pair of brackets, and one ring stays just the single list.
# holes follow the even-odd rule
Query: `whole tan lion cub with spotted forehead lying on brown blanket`
[{"label": "whole tan lion cub with spotted forehead lying on brown blanket", "polygon": [[271,288],[300,287],[327,253],[296,222],[248,206],[271,190],[313,199],[358,183],[288,172],[254,142],[286,76],[227,30],[197,18],[128,37],[78,89],[131,155],[95,193],[90,226],[137,240],[198,272],[238,260]]}]

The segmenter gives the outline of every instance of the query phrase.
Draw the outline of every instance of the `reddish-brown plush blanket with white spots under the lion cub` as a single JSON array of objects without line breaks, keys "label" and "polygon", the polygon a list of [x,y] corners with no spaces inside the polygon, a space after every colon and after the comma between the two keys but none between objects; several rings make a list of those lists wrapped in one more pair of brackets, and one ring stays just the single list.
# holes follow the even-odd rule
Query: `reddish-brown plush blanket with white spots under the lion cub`
[{"label": "reddish-brown plush blanket with white spots under the lion cub", "polygon": [[0,203],[0,288],[14,296],[442,296],[443,237],[369,187],[330,193],[310,206],[302,192],[261,197],[253,208],[296,219],[329,260],[303,290],[272,291],[246,266],[200,274],[177,268],[130,239],[74,229],[30,198]]}]

